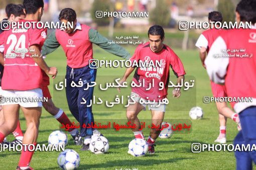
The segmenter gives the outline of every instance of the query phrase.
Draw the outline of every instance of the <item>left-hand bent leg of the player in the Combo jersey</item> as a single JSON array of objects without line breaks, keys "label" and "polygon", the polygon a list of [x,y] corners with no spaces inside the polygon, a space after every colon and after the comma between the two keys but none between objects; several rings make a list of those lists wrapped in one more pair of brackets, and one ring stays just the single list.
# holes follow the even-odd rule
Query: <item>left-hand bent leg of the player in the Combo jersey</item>
[{"label": "left-hand bent leg of the player in the Combo jersey", "polygon": [[136,102],[135,104],[130,104],[126,109],[126,117],[128,121],[131,121],[132,124],[136,124],[137,128],[132,128],[135,138],[142,138],[145,139],[141,128],[141,122],[137,115],[139,112],[144,108],[142,104]]}]

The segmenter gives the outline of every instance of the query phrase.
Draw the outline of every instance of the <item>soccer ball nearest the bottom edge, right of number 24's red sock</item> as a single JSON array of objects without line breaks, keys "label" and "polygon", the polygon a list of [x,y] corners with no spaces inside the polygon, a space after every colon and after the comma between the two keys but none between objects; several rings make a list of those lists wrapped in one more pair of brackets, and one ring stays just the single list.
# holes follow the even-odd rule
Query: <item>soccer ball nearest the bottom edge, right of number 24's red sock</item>
[{"label": "soccer ball nearest the bottom edge, right of number 24's red sock", "polygon": [[62,169],[75,169],[79,166],[80,156],[72,149],[65,149],[58,156],[58,165]]}]

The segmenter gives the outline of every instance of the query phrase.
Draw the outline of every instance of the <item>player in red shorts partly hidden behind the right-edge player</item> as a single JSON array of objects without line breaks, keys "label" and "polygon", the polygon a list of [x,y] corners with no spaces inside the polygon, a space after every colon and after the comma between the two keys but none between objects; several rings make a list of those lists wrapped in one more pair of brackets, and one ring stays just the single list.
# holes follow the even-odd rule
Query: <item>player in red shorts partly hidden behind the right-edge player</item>
[{"label": "player in red shorts partly hidden behind the right-edge player", "polygon": [[[222,14],[218,11],[212,11],[208,15],[208,19],[211,22],[222,22]],[[212,23],[214,24],[214,23]],[[203,33],[199,36],[196,46],[200,48],[200,59],[202,61],[203,66],[204,60],[206,58],[206,52],[209,52],[212,43],[214,40],[220,35],[221,31],[225,31],[223,29],[216,29],[215,27],[211,29],[207,29],[203,31]],[[226,88],[224,85],[220,85],[211,81],[211,89],[214,97],[227,97]],[[217,106],[217,110],[219,112],[219,136],[215,140],[215,142],[226,143],[226,121],[227,117],[233,119],[237,123],[238,129],[240,129],[239,125],[239,117],[237,113],[234,113],[229,107],[227,107],[226,102],[215,102]]]}]

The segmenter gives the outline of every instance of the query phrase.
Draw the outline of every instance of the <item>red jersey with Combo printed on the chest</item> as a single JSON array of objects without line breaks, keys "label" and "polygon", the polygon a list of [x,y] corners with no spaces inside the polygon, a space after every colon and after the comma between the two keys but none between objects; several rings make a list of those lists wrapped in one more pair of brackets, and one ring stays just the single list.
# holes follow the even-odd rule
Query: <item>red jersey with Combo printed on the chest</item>
[{"label": "red jersey with Combo printed on the chest", "polygon": [[[154,64],[156,64],[156,60],[158,60],[161,63],[161,67],[156,64],[156,67],[138,67],[135,71],[133,81],[137,84],[139,84],[139,80],[141,82],[144,81],[145,85],[142,87],[133,87],[132,91],[136,92],[144,99],[149,97],[149,100],[155,99],[155,101],[159,101],[167,96],[170,66],[177,77],[185,74],[180,58],[165,44],[160,52],[153,52],[150,49],[149,42],[141,44],[136,48],[135,53],[130,60],[132,62],[135,60],[137,60],[137,62],[139,62],[139,60],[143,62],[152,60]],[[153,83],[153,79],[154,87],[147,90],[147,88],[149,88],[149,83]],[[164,89],[162,90],[159,90],[159,88],[161,88],[161,86],[159,86],[160,82],[163,82],[164,84]]]}]

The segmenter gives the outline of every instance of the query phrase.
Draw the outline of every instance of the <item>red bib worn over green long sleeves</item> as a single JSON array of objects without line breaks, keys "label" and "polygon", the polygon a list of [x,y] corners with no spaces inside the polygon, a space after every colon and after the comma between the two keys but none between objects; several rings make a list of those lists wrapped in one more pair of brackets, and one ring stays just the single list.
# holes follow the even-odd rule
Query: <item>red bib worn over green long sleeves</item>
[{"label": "red bib worn over green long sleeves", "polygon": [[56,30],[56,39],[67,56],[68,66],[81,68],[88,65],[89,60],[92,59],[92,43],[89,40],[89,30],[90,27],[84,24],[81,24],[81,29],[77,29],[70,34],[61,29]]}]

